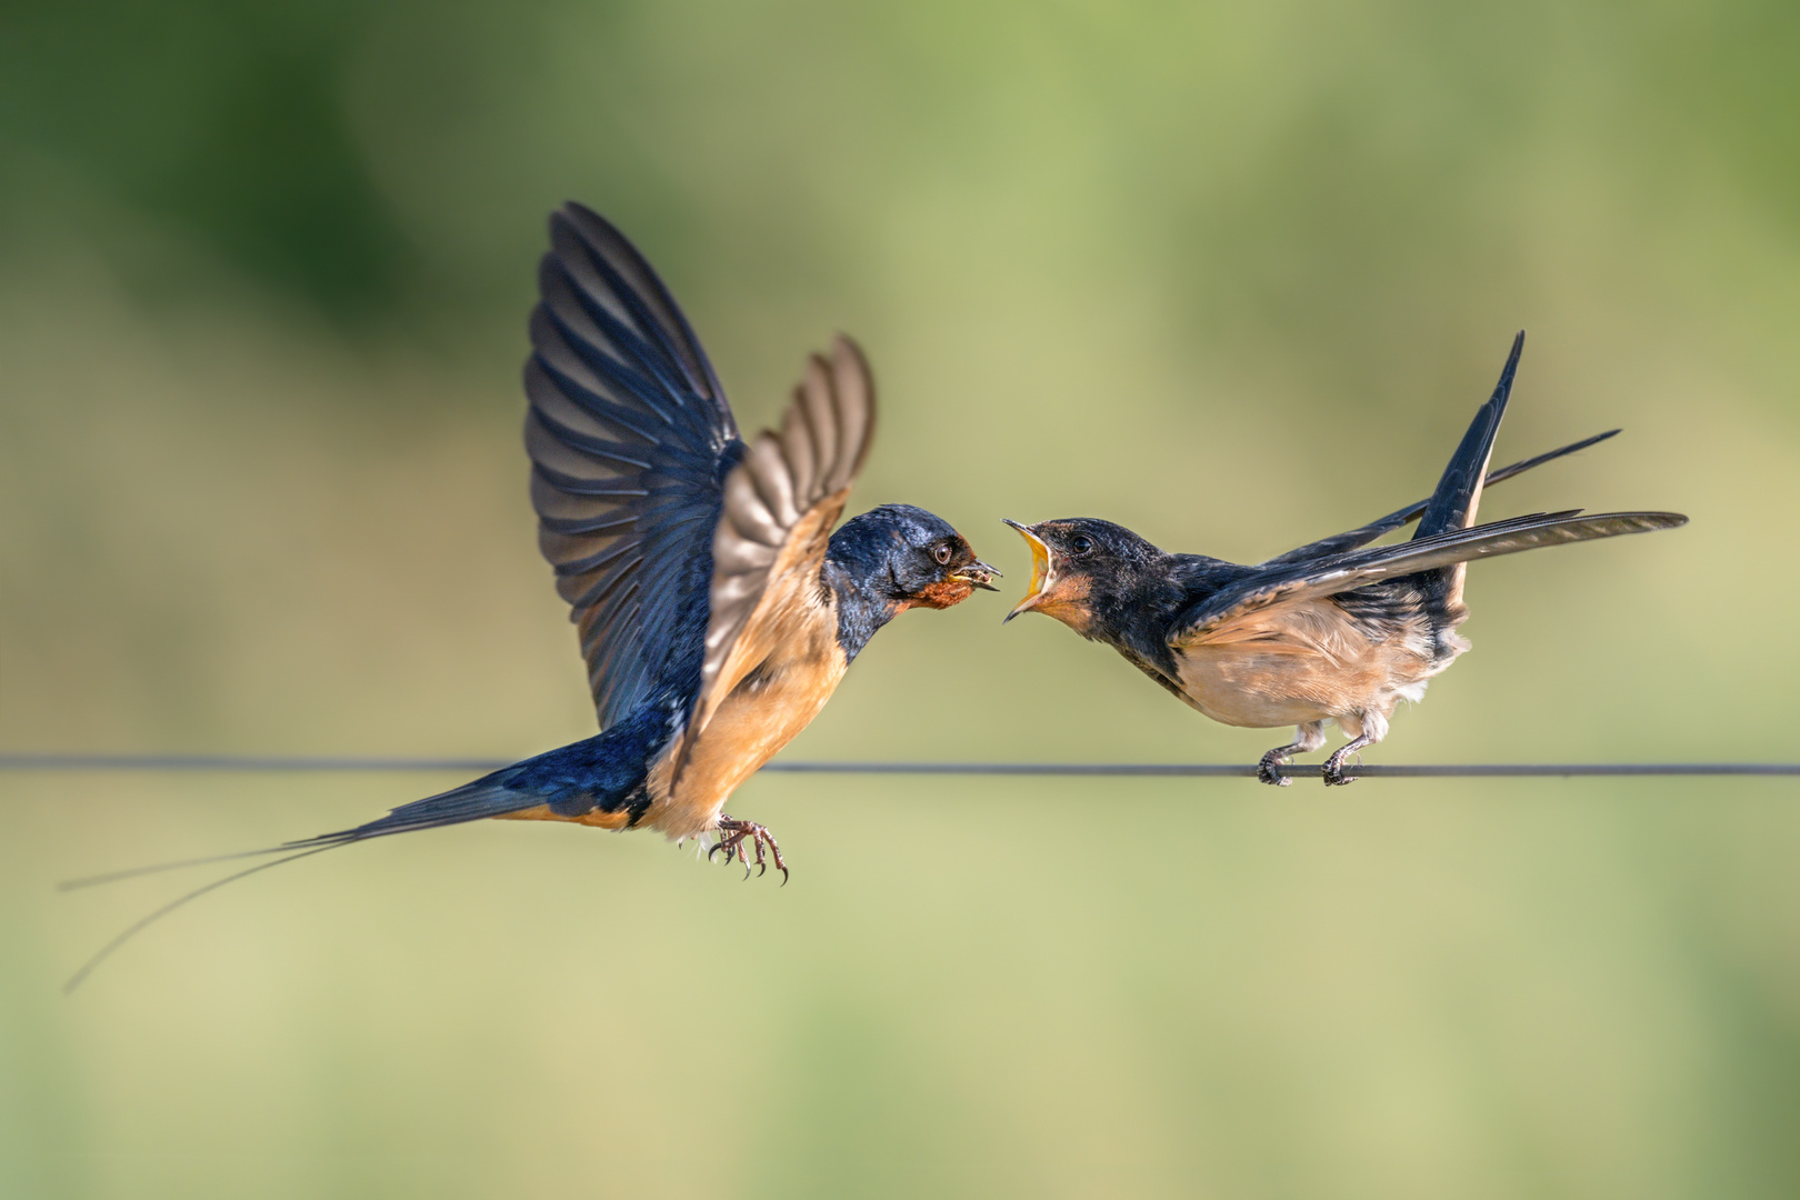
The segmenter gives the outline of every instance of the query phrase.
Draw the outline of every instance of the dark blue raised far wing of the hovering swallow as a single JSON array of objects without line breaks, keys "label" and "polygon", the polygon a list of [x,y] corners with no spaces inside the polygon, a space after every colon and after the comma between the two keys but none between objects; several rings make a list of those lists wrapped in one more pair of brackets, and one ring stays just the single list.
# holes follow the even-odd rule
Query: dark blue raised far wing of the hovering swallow
[{"label": "dark blue raised far wing of the hovering swallow", "polygon": [[743,441],[673,297],[601,216],[551,216],[538,291],[531,504],[607,729],[659,687],[698,685],[713,529]]}]

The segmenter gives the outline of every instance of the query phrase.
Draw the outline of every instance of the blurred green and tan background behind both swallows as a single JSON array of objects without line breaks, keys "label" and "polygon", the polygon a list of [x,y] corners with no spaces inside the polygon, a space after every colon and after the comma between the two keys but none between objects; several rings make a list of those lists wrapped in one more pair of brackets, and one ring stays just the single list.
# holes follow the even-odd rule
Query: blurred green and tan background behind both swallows
[{"label": "blurred green and tan background behind both swallows", "polygon": [[[999,516],[1262,558],[1424,495],[1519,326],[1474,569],[1370,761],[1793,759],[1800,9],[1391,0],[0,7],[0,747],[592,732],[518,448],[544,216],[623,225],[745,426],[835,329],[859,504],[1008,594],[808,759],[1249,761],[999,630]],[[1787,781],[767,775],[792,887],[653,837],[110,867],[454,777],[0,779],[5,1196],[1793,1196]],[[200,876],[203,880],[205,876]],[[196,882],[200,882],[196,880]]]}]

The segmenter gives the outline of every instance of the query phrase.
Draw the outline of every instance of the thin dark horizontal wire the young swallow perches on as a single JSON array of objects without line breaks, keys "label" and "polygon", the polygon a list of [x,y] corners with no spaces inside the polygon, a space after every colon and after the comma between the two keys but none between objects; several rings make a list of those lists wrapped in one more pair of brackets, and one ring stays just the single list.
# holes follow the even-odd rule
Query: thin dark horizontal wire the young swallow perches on
[{"label": "thin dark horizontal wire the young swallow perches on", "polygon": [[[511,759],[297,757],[254,754],[0,754],[0,770],[20,772],[490,772]],[[792,775],[1087,775],[1253,779],[1233,763],[769,763]],[[1289,779],[1318,777],[1314,765],[1276,768]],[[1800,763],[1433,763],[1345,765],[1359,779],[1570,779],[1595,775],[1800,775]]]}]

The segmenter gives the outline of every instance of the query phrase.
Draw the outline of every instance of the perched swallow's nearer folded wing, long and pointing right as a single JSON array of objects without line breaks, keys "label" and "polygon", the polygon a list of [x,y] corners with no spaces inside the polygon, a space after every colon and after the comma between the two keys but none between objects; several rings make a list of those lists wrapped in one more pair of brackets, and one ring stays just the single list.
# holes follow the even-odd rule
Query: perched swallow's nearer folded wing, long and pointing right
[{"label": "perched swallow's nearer folded wing, long and pointing right", "polygon": [[1674,529],[1685,525],[1679,513],[1597,513],[1579,516],[1568,513],[1534,513],[1514,520],[1451,529],[1429,538],[1415,538],[1402,545],[1377,547],[1336,554],[1312,563],[1258,570],[1256,574],[1213,592],[1183,612],[1170,633],[1170,646],[1195,646],[1228,637],[1231,624],[1249,613],[1274,604],[1298,604],[1321,596],[1350,592],[1381,579],[1436,570],[1478,558],[1517,554],[1543,545],[1615,538],[1627,533]]}]

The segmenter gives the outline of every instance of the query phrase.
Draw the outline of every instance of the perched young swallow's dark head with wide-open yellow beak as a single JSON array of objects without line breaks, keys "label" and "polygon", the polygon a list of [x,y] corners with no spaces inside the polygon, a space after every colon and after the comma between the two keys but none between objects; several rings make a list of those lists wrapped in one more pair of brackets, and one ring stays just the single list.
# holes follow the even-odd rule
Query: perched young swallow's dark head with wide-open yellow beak
[{"label": "perched young swallow's dark head with wide-open yellow beak", "polygon": [[1031,590],[1001,624],[1022,612],[1040,612],[1089,637],[1109,601],[1134,587],[1139,565],[1161,554],[1130,529],[1091,516],[1006,524],[1031,547]]}]

